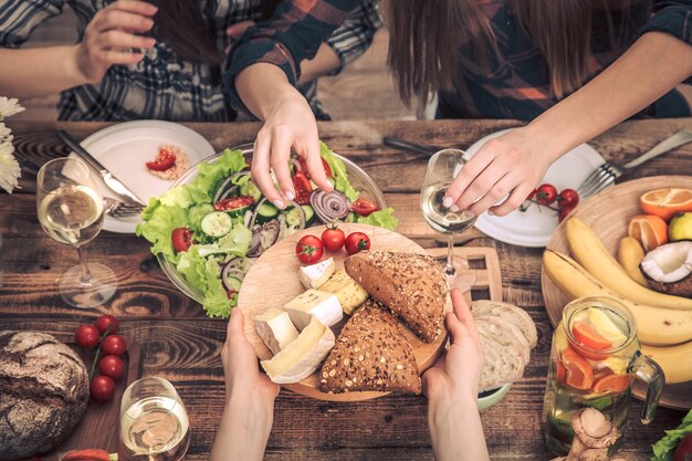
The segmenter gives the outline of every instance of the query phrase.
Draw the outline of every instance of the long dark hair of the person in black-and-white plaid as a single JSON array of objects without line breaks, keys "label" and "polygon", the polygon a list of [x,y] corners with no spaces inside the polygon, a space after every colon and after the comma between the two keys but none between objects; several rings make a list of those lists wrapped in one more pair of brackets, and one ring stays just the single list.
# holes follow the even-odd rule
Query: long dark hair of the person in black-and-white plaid
[{"label": "long dark hair of the person in black-and-white plaid", "polygon": [[[166,42],[186,61],[220,65],[223,50],[217,48],[211,22],[199,0],[148,0],[158,7],[155,38]],[[271,18],[282,0],[260,0],[262,20]],[[211,4],[211,2],[208,2]]]}]

